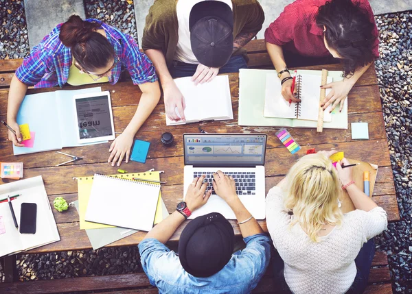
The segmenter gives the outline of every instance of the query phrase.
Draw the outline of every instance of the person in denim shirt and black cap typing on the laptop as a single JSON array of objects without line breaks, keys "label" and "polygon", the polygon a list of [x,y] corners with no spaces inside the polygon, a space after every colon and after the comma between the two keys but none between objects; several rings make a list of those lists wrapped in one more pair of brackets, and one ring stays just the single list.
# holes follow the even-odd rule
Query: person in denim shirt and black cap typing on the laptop
[{"label": "person in denim shirt and black cap typing on the laptop", "polygon": [[187,188],[185,202],[139,244],[141,265],[159,293],[250,293],[266,271],[271,239],[240,201],[233,177],[222,171],[213,177],[214,190],[236,214],[246,248],[233,254],[233,228],[218,212],[186,225],[179,254],[165,246],[181,223],[211,196],[203,183],[205,175],[196,177]]}]

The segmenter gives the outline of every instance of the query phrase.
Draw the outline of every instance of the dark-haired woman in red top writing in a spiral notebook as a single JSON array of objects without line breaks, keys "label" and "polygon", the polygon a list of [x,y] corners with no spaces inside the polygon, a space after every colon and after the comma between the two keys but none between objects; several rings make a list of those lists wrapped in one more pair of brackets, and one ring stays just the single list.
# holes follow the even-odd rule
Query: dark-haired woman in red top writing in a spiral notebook
[{"label": "dark-haired woman in red top writing in a spiral notebook", "polygon": [[[286,101],[299,101],[291,92],[288,66],[343,64],[343,80],[331,88],[323,109],[340,103],[340,110],[356,81],[378,53],[378,29],[367,0],[297,0],[266,29],[266,48]],[[332,111],[332,110],[331,110]]]}]

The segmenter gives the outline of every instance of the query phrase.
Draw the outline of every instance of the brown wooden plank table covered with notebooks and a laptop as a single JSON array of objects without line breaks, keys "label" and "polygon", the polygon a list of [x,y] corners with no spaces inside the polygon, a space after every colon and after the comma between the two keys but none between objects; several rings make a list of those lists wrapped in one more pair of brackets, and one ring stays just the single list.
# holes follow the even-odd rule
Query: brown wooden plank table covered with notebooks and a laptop
[{"label": "brown wooden plank table covered with notebooks and a laptop", "polygon": [[[340,70],[341,66],[339,64],[330,64],[310,66],[308,68],[301,67],[300,69],[328,69],[333,71]],[[399,219],[387,135],[374,66],[369,68],[350,92],[348,97],[348,129],[323,130],[319,134],[316,132],[316,129],[289,128],[290,134],[302,147],[301,151],[294,155],[290,154],[275,136],[275,132],[279,130],[279,127],[238,126],[238,81],[238,73],[229,74],[234,116],[234,119],[231,121],[166,126],[165,108],[162,98],[136,136],[140,140],[150,141],[150,150],[146,164],[133,161],[130,161],[128,164],[123,162],[119,168],[128,172],[141,172],[148,171],[149,169],[165,171],[165,173],[161,174],[161,180],[167,183],[161,186],[161,195],[168,208],[168,212],[171,213],[176,208],[176,204],[183,199],[183,133],[198,132],[199,125],[209,133],[264,133],[268,134],[265,162],[266,192],[284,177],[288,169],[298,158],[306,154],[306,150],[311,148],[315,148],[317,151],[336,149],[345,151],[345,156],[348,158],[378,164],[378,175],[372,198],[387,211],[389,221],[397,221]],[[63,90],[86,88],[89,86],[65,86]],[[133,117],[141,97],[141,91],[131,81],[115,85],[98,84],[98,86],[101,86],[102,90],[109,90],[111,92],[115,132],[118,136]],[[27,91],[27,94],[43,93],[57,89],[30,89]],[[0,119],[3,120],[5,120],[7,98],[8,89],[0,89]],[[369,123],[369,140],[352,140],[350,123],[361,121]],[[50,123],[54,122],[51,121]],[[162,145],[160,137],[163,132],[171,132],[173,134],[174,145],[172,147]],[[64,152],[75,156],[82,156],[83,160],[56,167],[56,164],[66,160],[65,156],[56,154],[56,151],[13,156],[12,143],[7,140],[5,128],[1,128],[0,158],[3,162],[23,162],[25,178],[42,175],[51,204],[58,196],[62,196],[68,202],[71,202],[78,198],[77,182],[72,180],[73,177],[93,175],[94,173],[117,173],[118,167],[111,167],[107,162],[110,144],[104,143],[65,148],[63,149]],[[8,180],[0,180],[0,184],[6,182]],[[58,224],[61,241],[32,249],[27,253],[34,254],[91,248],[87,234],[79,228],[79,218],[76,209],[69,208],[67,212],[53,210],[53,212]],[[266,230],[266,222],[259,222],[262,228]],[[235,233],[240,234],[236,222],[231,221],[231,224]],[[185,224],[181,225],[179,230],[172,236],[172,240],[179,240],[179,235],[184,226]],[[137,245],[144,238],[145,234],[146,232],[137,232],[108,246]],[[381,258],[381,260],[383,259],[385,258]],[[387,265],[387,260],[385,262],[385,265]],[[385,273],[385,279],[388,281],[390,276],[388,278],[389,271],[387,272]]]}]

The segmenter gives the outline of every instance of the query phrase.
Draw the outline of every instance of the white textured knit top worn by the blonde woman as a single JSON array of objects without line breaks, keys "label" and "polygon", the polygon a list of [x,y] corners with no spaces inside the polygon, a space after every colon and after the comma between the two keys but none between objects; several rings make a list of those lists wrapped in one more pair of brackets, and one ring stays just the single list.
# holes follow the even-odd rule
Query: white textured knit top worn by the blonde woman
[{"label": "white textured knit top worn by the blonde woman", "polygon": [[295,294],[345,293],[356,276],[355,258],[364,243],[387,229],[381,207],[368,212],[354,210],[343,215],[342,225],[314,243],[299,224],[289,228],[281,188],[266,197],[266,224],[273,245],[285,263],[286,283]]}]

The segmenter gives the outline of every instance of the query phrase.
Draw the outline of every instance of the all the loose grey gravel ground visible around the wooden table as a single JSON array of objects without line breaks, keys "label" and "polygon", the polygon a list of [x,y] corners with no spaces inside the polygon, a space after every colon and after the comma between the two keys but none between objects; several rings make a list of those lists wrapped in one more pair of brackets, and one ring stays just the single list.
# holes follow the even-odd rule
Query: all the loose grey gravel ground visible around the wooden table
[{"label": "all the loose grey gravel ground visible around the wooden table", "polygon": [[[133,2],[111,2],[114,3],[85,0],[87,17],[105,21],[137,40]],[[27,56],[29,47],[23,1],[0,0],[0,15],[0,58]],[[376,22],[381,40],[376,73],[401,217],[401,221],[389,223],[388,230],[376,238],[376,244],[379,250],[388,253],[393,291],[412,293],[412,137],[409,136],[412,127],[412,12],[376,16]],[[17,256],[17,262],[21,280],[141,271],[137,247],[22,254]]]}]

